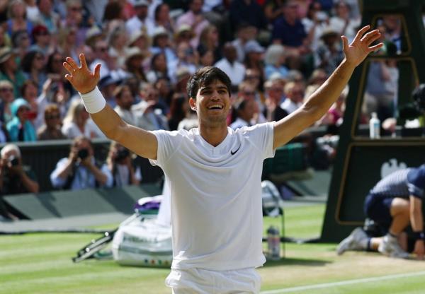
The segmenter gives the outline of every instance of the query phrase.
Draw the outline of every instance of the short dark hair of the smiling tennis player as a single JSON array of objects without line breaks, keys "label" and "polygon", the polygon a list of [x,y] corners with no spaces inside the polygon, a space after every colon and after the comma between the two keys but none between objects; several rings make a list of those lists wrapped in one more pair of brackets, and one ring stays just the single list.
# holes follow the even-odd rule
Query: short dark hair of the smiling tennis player
[{"label": "short dark hair of the smiling tennis player", "polygon": [[193,73],[193,76],[189,79],[188,86],[186,86],[189,98],[196,99],[196,94],[198,93],[199,88],[201,86],[208,86],[214,81],[224,83],[229,95],[232,93],[230,91],[232,82],[230,81],[229,76],[215,66],[205,66],[202,69],[198,69],[196,73]]}]

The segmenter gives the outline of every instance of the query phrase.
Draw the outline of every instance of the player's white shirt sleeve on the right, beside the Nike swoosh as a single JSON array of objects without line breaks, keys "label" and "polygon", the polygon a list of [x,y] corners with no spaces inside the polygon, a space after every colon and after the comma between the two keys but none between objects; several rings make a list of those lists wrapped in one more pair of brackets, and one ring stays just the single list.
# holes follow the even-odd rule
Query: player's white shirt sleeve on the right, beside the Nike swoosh
[{"label": "player's white shirt sleeve on the right, beside the Nike swoosh", "polygon": [[244,136],[249,138],[249,141],[259,149],[263,159],[266,159],[273,157],[275,154],[273,150],[273,130],[274,123],[266,122],[264,124],[256,124],[252,127],[237,129],[237,132],[244,132]]}]

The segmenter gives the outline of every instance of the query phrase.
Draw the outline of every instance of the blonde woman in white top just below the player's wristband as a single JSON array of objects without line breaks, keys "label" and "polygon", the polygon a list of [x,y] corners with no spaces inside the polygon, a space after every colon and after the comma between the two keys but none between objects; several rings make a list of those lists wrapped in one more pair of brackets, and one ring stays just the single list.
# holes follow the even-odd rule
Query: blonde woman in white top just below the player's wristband
[{"label": "blonde woman in white top just below the player's wristband", "polygon": [[95,138],[96,129],[88,124],[89,112],[86,112],[83,102],[80,99],[72,100],[67,116],[64,117],[62,133],[68,139],[74,139],[78,136],[86,136],[87,138]]}]

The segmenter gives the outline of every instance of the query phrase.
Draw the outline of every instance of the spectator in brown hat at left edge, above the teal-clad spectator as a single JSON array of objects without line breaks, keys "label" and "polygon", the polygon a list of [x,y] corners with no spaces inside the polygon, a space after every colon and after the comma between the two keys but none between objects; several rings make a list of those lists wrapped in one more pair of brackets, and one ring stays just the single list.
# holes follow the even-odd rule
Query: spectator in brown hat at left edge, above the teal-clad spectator
[{"label": "spectator in brown hat at left edge, above the teal-clad spectator", "polygon": [[3,47],[0,49],[0,81],[6,80],[13,85],[13,96],[19,97],[21,86],[26,80],[23,72],[19,69],[15,60],[16,54],[12,49]]}]

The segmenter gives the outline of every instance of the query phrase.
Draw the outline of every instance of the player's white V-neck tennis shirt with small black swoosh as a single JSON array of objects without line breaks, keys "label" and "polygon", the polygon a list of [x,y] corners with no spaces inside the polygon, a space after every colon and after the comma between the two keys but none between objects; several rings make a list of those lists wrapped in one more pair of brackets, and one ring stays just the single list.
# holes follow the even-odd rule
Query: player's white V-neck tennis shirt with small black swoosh
[{"label": "player's white V-neck tennis shirt with small black swoosh", "polygon": [[171,189],[172,269],[262,266],[263,160],[274,155],[273,123],[244,127],[214,147],[198,129],[152,131]]}]

